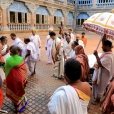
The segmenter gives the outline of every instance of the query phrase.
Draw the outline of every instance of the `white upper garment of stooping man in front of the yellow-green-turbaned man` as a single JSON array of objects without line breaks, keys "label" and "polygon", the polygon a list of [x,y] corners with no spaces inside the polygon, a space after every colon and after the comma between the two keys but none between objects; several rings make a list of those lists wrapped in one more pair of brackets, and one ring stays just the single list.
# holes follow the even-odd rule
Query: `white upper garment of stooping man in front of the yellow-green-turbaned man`
[{"label": "white upper garment of stooping man in front of the yellow-green-turbaned man", "polygon": [[34,43],[29,42],[29,43],[26,45],[26,53],[27,53],[27,50],[30,50],[29,60],[31,60],[31,61],[37,61],[38,55],[37,55],[37,53],[36,53],[36,48],[35,48]]}]

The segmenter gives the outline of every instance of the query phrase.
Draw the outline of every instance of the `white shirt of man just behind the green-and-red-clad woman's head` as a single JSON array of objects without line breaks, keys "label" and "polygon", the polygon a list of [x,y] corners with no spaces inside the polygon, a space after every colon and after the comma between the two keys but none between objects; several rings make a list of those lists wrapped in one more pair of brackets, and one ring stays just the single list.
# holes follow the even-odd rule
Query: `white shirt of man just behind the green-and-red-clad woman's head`
[{"label": "white shirt of man just behind the green-and-red-clad woman's head", "polygon": [[22,50],[22,56],[24,57],[24,53],[25,53],[25,47],[24,47],[24,43],[21,41],[21,39],[19,39],[18,37],[13,41],[13,45],[18,46],[21,48]]}]

